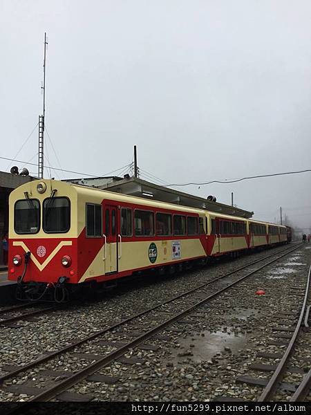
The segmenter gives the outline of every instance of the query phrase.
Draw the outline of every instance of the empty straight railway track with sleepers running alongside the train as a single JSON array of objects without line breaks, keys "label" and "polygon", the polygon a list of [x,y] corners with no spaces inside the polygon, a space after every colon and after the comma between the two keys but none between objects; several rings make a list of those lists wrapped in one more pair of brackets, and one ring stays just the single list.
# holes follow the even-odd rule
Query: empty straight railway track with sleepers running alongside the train
[{"label": "empty straight railway track with sleepers running alongside the train", "polygon": [[[110,326],[106,326],[106,328],[97,331],[91,335],[88,335],[86,338],[82,340],[77,340],[71,344],[68,344],[66,347],[59,349],[57,351],[53,351],[51,353],[46,354],[37,360],[34,360],[28,365],[23,365],[21,367],[10,367],[10,369],[6,369],[5,367],[2,370],[10,370],[7,374],[0,376],[0,382],[3,383],[8,379],[15,378],[21,373],[28,371],[34,367],[39,367],[39,365],[49,362],[49,365],[53,367],[57,367],[57,362],[53,362],[53,358],[58,358],[59,356],[63,356],[66,358],[65,353],[71,352],[75,358],[81,358],[82,360],[87,360],[88,363],[86,367],[79,371],[72,371],[64,373],[62,372],[62,380],[59,379],[59,371],[53,369],[49,371],[42,371],[41,374],[46,374],[47,380],[44,382],[44,385],[50,385],[49,387],[43,389],[37,386],[31,385],[31,383],[26,385],[14,386],[14,385],[6,385],[3,384],[3,389],[7,391],[11,391],[17,394],[26,394],[30,396],[27,402],[34,402],[34,401],[46,401],[56,398],[57,400],[79,400],[79,397],[73,396],[73,394],[69,394],[66,391],[70,389],[73,385],[83,379],[91,380],[92,376],[103,367],[111,364],[111,362],[115,362],[116,360],[120,360],[126,353],[131,351],[131,349],[138,347],[143,349],[153,349],[152,345],[144,344],[144,341],[150,340],[153,336],[157,335],[157,333],[161,333],[165,331],[168,326],[173,324],[174,322],[180,320],[181,317],[188,315],[196,308],[207,304],[212,299],[215,299],[225,291],[229,290],[236,286],[239,282],[247,279],[248,277],[254,275],[259,270],[262,270],[266,266],[273,264],[274,262],[278,261],[282,257],[290,254],[297,248],[299,248],[301,244],[295,246],[294,248],[287,248],[282,252],[276,252],[272,255],[268,255],[265,258],[258,259],[256,261],[252,261],[251,263],[236,268],[236,270],[232,270],[229,273],[222,275],[216,279],[210,280],[205,284],[201,284],[196,288],[192,288],[191,290],[177,295],[171,299],[168,299],[165,302],[161,302],[156,306],[148,308],[141,313],[132,315],[131,317],[127,317],[126,319],[122,320],[121,322],[117,322],[116,324],[112,324]],[[274,259],[270,259],[274,257]],[[258,266],[258,268],[253,268],[255,264],[259,262],[264,262]],[[247,268],[251,268],[250,270]],[[242,275],[241,275],[242,273]],[[219,288],[217,285],[220,283],[223,284],[224,280],[227,277],[234,276],[234,281],[229,282],[224,287]],[[213,287],[211,287],[213,284]],[[221,286],[220,284],[220,286]],[[219,288],[219,289],[218,289]],[[168,317],[169,316],[169,317]],[[168,317],[168,318],[167,318]],[[135,333],[136,329],[140,330],[140,333]],[[106,333],[109,335],[115,336],[117,339],[115,340],[100,340],[101,337],[104,337]],[[120,336],[122,341],[120,342]],[[125,336],[125,338],[124,338]],[[129,338],[131,340],[129,340]],[[92,346],[96,348],[100,348],[100,354],[93,354],[93,353],[79,353],[78,347],[82,347],[82,345],[92,342]],[[82,348],[83,349],[83,348]],[[64,356],[65,355],[65,356]],[[70,356],[70,355],[69,355]],[[68,356],[67,356],[68,358]],[[91,360],[91,363],[89,361]],[[128,359],[129,360],[129,359]],[[75,367],[73,367],[73,370]],[[91,376],[91,378],[90,378]],[[56,383],[53,381],[53,378],[57,378],[58,382]],[[104,382],[105,376],[97,375],[93,376],[93,379],[97,379],[94,381],[97,382]],[[101,380],[102,379],[102,380]],[[77,394],[75,394],[77,395]],[[81,400],[88,400],[87,396],[80,396]]]}]

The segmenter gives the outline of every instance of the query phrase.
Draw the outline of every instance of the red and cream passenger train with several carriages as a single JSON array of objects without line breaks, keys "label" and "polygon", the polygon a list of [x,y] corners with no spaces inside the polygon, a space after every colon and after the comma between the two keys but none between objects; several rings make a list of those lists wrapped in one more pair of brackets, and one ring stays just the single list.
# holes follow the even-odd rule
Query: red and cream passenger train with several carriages
[{"label": "red and cream passenger train with several carriages", "polygon": [[21,299],[61,302],[68,288],[286,242],[282,225],[62,181],[10,194],[8,271]]}]

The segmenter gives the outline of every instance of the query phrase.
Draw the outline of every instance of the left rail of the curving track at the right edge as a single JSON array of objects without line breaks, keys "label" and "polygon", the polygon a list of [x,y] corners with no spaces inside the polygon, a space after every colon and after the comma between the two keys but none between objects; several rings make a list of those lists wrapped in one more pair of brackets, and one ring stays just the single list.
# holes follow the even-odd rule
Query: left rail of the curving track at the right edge
[{"label": "left rail of the curving track at the right edge", "polygon": [[288,344],[287,349],[285,350],[285,353],[283,354],[283,358],[281,358],[279,365],[277,365],[274,373],[272,374],[269,382],[267,383],[267,386],[263,390],[261,396],[258,398],[258,402],[265,402],[267,400],[271,400],[272,395],[274,394],[274,391],[276,387],[279,384],[280,378],[283,375],[283,372],[286,369],[286,364],[288,362],[288,358],[290,357],[290,354],[292,353],[294,349],[294,344],[296,342],[296,338],[298,336],[298,333],[301,329],[301,322],[303,321],[303,314],[305,313],[305,307],[307,304],[308,299],[308,293],[309,293],[309,287],[310,287],[310,275],[311,275],[311,266],[309,268],[307,283],[305,284],[305,295],[303,298],[303,304],[301,306],[301,313],[299,315],[298,322],[296,324],[296,328],[294,330],[294,333],[292,335],[292,338],[290,339],[290,343]]}]

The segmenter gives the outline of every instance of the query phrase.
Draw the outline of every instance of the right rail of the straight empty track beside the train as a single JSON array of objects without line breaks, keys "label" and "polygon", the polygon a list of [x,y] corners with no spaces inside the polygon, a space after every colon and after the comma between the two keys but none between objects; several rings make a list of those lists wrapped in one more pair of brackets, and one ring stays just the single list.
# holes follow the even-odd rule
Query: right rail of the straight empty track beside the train
[{"label": "right rail of the straight empty track beside the train", "polygon": [[285,255],[288,255],[290,252],[292,252],[296,249],[297,248],[294,248],[293,250],[290,250],[289,252],[286,252],[283,255],[281,255],[281,256],[279,256],[275,259],[272,259],[272,261],[269,261],[267,264],[264,264],[263,266],[261,266],[259,268],[256,268],[256,270],[252,270],[250,273],[247,273],[247,275],[244,275],[240,279],[237,279],[235,282],[232,282],[231,284],[225,286],[225,288],[221,288],[220,290],[216,291],[216,293],[213,293],[213,294],[205,297],[205,299],[201,299],[196,304],[193,304],[189,308],[186,308],[185,310],[183,310],[180,313],[174,315],[173,317],[170,317],[168,320],[165,320],[164,322],[158,324],[157,326],[155,326],[152,329],[148,330],[146,333],[143,333],[142,335],[139,335],[134,340],[131,340],[130,342],[127,342],[126,344],[124,344],[119,349],[117,349],[117,350],[109,353],[108,355],[100,358],[99,360],[96,360],[95,362],[91,363],[91,365],[88,365],[88,367],[77,371],[75,374],[73,374],[72,376],[70,376],[70,377],[68,377],[64,380],[61,380],[60,382],[57,383],[57,385],[54,385],[53,387],[50,387],[49,389],[46,389],[45,391],[42,391],[37,396],[34,396],[33,398],[30,398],[27,401],[27,403],[37,402],[37,401],[42,402],[42,401],[47,401],[47,400],[50,400],[52,398],[55,398],[55,396],[61,394],[63,391],[66,391],[67,389],[69,389],[70,387],[75,385],[80,380],[83,380],[84,378],[87,378],[91,374],[94,374],[98,369],[101,369],[102,367],[105,367],[106,365],[109,365],[111,362],[113,362],[114,360],[120,358],[125,353],[127,353],[130,349],[133,349],[134,347],[138,346],[138,344],[142,343],[144,340],[147,340],[147,339],[151,338],[154,334],[158,333],[159,331],[162,331],[166,326],[169,326],[173,322],[176,322],[177,320],[180,319],[180,317],[183,317],[183,316],[191,313],[191,311],[194,311],[195,308],[198,308],[198,307],[202,306],[203,304],[205,304],[206,302],[210,301],[211,299],[214,299],[215,297],[218,297],[220,294],[227,291],[228,288],[231,288],[232,286],[235,286],[239,282],[241,282],[244,279],[250,277],[251,275],[254,275],[259,270],[265,268],[266,266],[268,266],[270,264],[273,264],[274,262],[278,261],[282,257],[285,257]]}]

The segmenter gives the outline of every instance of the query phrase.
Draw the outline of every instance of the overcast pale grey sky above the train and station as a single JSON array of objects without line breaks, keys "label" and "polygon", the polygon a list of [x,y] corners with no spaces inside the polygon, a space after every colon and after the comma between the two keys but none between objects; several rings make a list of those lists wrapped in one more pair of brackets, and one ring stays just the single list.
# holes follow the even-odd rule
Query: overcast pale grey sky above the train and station
[{"label": "overcast pale grey sky above the train and station", "polygon": [[[131,163],[136,144],[140,168],[167,183],[311,168],[310,0],[0,0],[3,157],[42,111],[45,31],[50,165],[102,175]],[[37,130],[17,158],[36,154]],[[306,173],[182,190],[223,203],[233,191],[269,221],[283,206],[305,228],[310,183]]]}]

